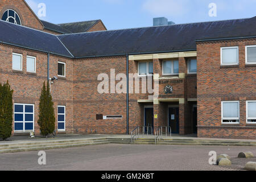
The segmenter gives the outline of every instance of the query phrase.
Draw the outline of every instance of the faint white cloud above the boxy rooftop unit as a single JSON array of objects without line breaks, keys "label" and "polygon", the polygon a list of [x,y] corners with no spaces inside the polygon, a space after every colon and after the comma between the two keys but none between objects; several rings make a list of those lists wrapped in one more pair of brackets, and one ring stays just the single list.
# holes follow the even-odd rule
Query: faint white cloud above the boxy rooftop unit
[{"label": "faint white cloud above the boxy rooftop unit", "polygon": [[188,0],[147,0],[142,9],[155,16],[180,16],[188,11]]}]

